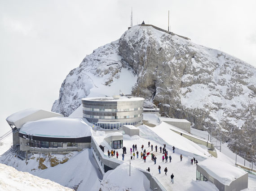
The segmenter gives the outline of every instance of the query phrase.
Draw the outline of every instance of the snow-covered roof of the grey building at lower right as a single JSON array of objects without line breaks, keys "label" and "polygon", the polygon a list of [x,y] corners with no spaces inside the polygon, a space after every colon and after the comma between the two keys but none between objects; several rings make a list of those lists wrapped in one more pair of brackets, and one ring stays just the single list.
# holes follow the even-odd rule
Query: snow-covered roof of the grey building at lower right
[{"label": "snow-covered roof of the grey building at lower right", "polygon": [[198,165],[213,178],[217,179],[220,183],[228,186],[235,179],[247,173],[238,167],[232,166],[214,157],[199,162]]}]

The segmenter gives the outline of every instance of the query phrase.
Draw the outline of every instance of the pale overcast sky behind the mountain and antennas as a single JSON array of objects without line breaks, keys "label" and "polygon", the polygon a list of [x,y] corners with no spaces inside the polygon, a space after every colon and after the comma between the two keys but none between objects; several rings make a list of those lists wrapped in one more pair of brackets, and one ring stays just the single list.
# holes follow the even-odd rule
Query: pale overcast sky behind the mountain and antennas
[{"label": "pale overcast sky behind the mountain and antennas", "polygon": [[[160,3],[159,3],[160,2]],[[51,110],[85,55],[143,20],[256,66],[255,0],[0,0],[0,136],[26,108]]]}]

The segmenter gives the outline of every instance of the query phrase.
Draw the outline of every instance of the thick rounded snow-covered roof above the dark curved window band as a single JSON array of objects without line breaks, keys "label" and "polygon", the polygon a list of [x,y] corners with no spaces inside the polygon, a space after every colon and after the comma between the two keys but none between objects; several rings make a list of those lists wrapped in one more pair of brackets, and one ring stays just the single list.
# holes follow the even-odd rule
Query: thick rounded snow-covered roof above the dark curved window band
[{"label": "thick rounded snow-covered roof above the dark curved window band", "polygon": [[91,136],[91,127],[82,119],[52,117],[25,123],[21,133],[33,136],[79,138]]}]

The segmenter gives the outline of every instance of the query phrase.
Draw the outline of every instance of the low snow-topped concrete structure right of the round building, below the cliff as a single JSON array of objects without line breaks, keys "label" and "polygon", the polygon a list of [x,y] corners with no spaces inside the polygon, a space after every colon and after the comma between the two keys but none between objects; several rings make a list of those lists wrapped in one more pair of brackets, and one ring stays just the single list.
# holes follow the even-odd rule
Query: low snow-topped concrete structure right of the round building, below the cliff
[{"label": "low snow-topped concrete structure right of the round building, below the cliff", "polygon": [[174,119],[174,118],[164,118],[159,117],[160,121],[163,121],[165,123],[168,123],[170,125],[173,125],[175,127],[178,127],[186,132],[190,133],[190,122],[186,119]]}]

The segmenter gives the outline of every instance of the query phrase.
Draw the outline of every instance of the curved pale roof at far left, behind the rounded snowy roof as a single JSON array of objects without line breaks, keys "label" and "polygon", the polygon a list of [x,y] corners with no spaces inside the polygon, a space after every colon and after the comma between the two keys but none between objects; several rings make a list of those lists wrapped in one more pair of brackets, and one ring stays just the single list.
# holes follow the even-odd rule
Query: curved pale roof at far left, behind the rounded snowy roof
[{"label": "curved pale roof at far left, behind the rounded snowy roof", "polygon": [[29,109],[18,111],[10,115],[9,117],[6,118],[6,121],[9,124],[15,125],[17,128],[19,128],[28,121],[35,121],[39,119],[57,117],[57,116],[61,117],[63,115],[52,112],[52,111],[29,108]]}]

